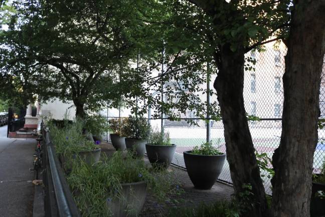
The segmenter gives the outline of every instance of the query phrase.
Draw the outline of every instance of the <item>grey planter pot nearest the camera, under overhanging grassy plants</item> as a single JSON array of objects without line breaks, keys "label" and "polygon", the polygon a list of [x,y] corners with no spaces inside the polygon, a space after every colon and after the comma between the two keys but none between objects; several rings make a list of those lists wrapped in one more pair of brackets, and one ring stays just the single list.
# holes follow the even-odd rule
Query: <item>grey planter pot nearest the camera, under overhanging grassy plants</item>
[{"label": "grey planter pot nearest the camera, under overhanging grassy plants", "polygon": [[121,184],[119,198],[107,198],[106,204],[115,217],[138,216],[146,197],[144,181]]}]

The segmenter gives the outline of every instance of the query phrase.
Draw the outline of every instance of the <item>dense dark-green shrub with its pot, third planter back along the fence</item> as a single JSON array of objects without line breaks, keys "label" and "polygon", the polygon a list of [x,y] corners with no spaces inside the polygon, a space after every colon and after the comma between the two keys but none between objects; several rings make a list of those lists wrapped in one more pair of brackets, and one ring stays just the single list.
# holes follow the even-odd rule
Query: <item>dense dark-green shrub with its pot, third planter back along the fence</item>
[{"label": "dense dark-green shrub with its pot, third planter back along the fence", "polygon": [[150,125],[143,117],[129,117],[125,127],[125,145],[128,150],[131,150],[138,157],[143,157],[145,153],[145,144],[148,143],[150,134]]}]

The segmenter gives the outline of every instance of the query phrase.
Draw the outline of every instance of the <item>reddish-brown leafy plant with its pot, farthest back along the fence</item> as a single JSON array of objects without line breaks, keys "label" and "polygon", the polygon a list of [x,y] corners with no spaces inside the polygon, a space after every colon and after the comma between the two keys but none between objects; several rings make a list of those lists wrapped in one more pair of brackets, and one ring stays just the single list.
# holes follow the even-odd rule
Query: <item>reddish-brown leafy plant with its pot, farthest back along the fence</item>
[{"label": "reddish-brown leafy plant with its pot, farthest back along the fence", "polygon": [[125,145],[125,127],[127,118],[117,118],[108,121],[109,130],[113,133],[109,134],[112,145],[116,150],[124,151]]}]

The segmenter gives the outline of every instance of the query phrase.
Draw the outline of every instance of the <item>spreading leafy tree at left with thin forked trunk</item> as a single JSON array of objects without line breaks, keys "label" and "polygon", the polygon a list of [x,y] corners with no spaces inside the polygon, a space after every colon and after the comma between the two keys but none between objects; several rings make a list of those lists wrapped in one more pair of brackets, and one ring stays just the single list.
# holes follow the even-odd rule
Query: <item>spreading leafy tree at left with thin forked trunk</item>
[{"label": "spreading leafy tree at left with thin forked trunk", "polygon": [[135,56],[142,25],[134,3],[14,2],[17,15],[1,38],[2,74],[33,75],[44,100],[72,100],[79,117],[118,101],[119,68]]}]

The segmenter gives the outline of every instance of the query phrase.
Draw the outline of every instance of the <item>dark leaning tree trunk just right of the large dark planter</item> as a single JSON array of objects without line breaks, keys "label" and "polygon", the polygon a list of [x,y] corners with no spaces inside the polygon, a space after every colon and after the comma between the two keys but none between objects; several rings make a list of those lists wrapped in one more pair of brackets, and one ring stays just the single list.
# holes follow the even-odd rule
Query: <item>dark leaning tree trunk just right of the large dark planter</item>
[{"label": "dark leaning tree trunk just right of the large dark planter", "polygon": [[243,184],[250,184],[253,193],[250,199],[253,199],[254,206],[249,207],[249,203],[246,203],[247,216],[267,216],[265,190],[244,107],[244,48],[238,46],[237,51],[232,52],[228,44],[222,47],[220,54],[214,88],[225,129],[227,160],[235,194],[240,202],[244,202],[240,193],[248,190],[243,189]]}]

